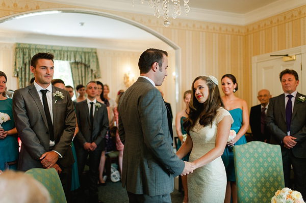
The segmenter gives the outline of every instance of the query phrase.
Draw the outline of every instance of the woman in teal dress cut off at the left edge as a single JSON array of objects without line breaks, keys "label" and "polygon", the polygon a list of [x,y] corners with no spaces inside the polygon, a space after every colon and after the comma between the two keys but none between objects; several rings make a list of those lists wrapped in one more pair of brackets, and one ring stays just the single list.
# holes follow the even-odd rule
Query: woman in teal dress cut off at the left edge
[{"label": "woman in teal dress cut off at the left edge", "polygon": [[[18,159],[19,146],[17,142],[17,130],[13,118],[12,99],[3,96],[5,92],[7,76],[0,71],[0,112],[7,113],[10,120],[1,124],[0,127],[0,170],[5,170],[5,163]],[[17,163],[10,165],[9,169],[17,169]]]}]

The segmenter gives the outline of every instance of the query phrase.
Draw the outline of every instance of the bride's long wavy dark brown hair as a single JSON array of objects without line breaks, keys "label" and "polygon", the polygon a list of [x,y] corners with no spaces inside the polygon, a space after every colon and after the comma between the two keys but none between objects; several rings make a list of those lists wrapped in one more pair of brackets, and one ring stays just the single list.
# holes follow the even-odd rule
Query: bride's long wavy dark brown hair
[{"label": "bride's long wavy dark brown hair", "polygon": [[[217,109],[220,107],[224,108],[224,104],[221,99],[218,85],[210,84],[213,83],[211,79],[203,80],[202,77],[203,76],[196,77],[193,80],[191,86],[193,94],[189,102],[188,118],[183,123],[184,129],[189,135],[190,135],[190,130],[193,129],[198,118],[199,118],[199,123],[202,126],[207,126],[209,124],[213,125],[213,120],[216,117]],[[208,86],[214,86],[214,88],[209,89],[209,96],[207,100],[202,104],[199,103],[198,100],[195,98],[195,89],[193,87],[195,81],[199,79],[205,81]]]}]

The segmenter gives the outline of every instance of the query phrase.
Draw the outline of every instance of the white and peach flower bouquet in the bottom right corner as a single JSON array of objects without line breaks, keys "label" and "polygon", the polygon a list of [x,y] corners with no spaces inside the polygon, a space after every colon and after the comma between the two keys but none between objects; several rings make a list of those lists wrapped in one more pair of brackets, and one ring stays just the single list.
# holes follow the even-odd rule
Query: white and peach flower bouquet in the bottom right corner
[{"label": "white and peach flower bouquet in the bottom right corner", "polygon": [[283,188],[277,190],[275,196],[272,197],[271,203],[305,203],[300,192]]}]

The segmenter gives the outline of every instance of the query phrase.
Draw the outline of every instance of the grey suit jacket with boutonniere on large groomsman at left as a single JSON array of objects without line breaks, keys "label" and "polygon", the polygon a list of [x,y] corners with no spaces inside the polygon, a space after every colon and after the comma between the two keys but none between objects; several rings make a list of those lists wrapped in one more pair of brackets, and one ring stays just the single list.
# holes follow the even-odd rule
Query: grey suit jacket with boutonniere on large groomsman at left
[{"label": "grey suit jacket with boutonniere on large groomsman at left", "polygon": [[[69,167],[74,162],[70,147],[75,130],[74,107],[67,91],[52,85],[52,92],[56,91],[63,93],[64,98],[55,102],[56,98],[53,97],[55,146],[52,150],[63,156],[58,159],[58,163]],[[43,168],[39,158],[43,153],[50,151],[48,124],[34,84],[14,92],[13,113],[15,126],[22,141],[18,169]]]}]

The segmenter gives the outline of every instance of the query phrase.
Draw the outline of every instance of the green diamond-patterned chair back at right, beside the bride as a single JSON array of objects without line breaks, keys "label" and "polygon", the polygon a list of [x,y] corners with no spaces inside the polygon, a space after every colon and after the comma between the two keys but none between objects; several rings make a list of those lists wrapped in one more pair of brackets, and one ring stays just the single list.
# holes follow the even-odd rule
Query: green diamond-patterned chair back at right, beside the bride
[{"label": "green diamond-patterned chair back at right, beside the bride", "polygon": [[281,147],[261,141],[234,146],[238,202],[271,202],[285,187]]}]

